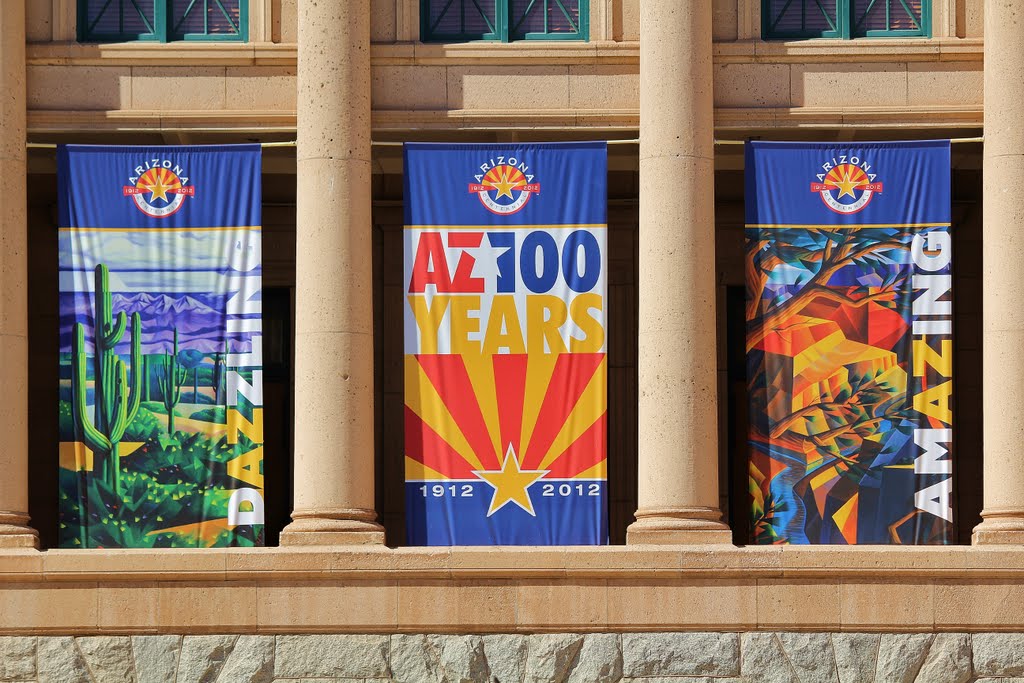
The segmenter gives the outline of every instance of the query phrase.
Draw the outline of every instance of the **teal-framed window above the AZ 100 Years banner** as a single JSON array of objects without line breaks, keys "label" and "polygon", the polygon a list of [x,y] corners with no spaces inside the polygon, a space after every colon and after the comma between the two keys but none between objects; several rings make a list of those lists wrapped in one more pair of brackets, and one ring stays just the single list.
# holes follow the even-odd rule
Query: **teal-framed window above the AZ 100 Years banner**
[{"label": "teal-framed window above the AZ 100 Years banner", "polygon": [[588,40],[589,0],[421,0],[426,42]]}]

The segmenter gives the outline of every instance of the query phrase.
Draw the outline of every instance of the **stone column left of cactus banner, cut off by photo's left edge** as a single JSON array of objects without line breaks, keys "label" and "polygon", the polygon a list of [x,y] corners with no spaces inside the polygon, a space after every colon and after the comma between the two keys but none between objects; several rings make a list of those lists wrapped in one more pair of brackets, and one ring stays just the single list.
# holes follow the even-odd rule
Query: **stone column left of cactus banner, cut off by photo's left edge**
[{"label": "stone column left of cactus banner, cut off by photo's left edge", "polygon": [[0,2],[0,548],[35,548],[29,526],[29,262],[25,0]]}]

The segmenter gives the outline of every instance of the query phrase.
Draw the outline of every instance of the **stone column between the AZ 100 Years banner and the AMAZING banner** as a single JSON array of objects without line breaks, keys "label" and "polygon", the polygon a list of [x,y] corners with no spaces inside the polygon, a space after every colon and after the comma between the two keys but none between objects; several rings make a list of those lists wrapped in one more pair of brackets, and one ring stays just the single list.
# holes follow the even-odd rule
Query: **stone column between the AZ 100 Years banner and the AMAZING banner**
[{"label": "stone column between the AZ 100 Years banner and the AMAZING banner", "polygon": [[732,542],[718,509],[711,5],[640,1],[640,462],[630,544]]}]

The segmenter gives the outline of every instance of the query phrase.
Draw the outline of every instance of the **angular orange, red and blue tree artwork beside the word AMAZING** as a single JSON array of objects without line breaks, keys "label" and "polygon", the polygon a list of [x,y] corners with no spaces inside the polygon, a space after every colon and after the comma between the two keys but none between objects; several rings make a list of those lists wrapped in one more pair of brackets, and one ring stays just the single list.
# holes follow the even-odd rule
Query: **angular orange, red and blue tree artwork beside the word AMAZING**
[{"label": "angular orange, red and blue tree artwork beside the word AMAZING", "polygon": [[860,496],[887,485],[912,438],[900,351],[912,234],[746,234],[752,535],[757,543],[856,543]]}]

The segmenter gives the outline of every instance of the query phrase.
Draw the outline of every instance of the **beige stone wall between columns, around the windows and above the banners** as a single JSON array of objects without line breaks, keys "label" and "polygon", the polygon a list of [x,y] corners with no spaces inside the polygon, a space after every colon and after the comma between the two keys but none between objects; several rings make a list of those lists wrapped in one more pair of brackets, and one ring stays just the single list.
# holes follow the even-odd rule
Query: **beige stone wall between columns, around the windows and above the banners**
[{"label": "beige stone wall between columns, around the windows and above the banners", "polygon": [[[220,45],[78,45],[74,4],[28,3],[30,131],[294,128],[296,0],[252,0],[251,42]],[[714,0],[716,128],[978,126],[981,5],[935,0],[932,40],[783,43],[760,0]],[[591,23],[588,43],[423,44],[419,0],[374,0],[374,128],[637,129],[639,0],[592,0]]]}]

